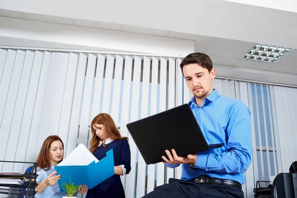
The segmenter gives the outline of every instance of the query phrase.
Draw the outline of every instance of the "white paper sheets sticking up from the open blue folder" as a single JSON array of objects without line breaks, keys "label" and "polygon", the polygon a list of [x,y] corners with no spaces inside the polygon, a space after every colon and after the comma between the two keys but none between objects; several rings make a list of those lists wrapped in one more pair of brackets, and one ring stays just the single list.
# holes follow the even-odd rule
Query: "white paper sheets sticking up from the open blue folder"
[{"label": "white paper sheets sticking up from the open blue folder", "polygon": [[75,148],[63,161],[57,166],[69,165],[89,165],[91,162],[99,161],[84,144],[80,144]]}]

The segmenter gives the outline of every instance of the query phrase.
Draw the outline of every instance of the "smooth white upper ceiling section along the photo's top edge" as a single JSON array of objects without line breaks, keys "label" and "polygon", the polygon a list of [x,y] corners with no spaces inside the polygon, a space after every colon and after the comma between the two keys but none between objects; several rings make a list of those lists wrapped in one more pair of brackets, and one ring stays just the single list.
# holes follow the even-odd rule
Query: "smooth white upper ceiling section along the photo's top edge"
[{"label": "smooth white upper ceiling section along the photo's top edge", "polygon": [[89,25],[111,26],[117,30],[123,25],[128,29],[133,27],[133,31],[143,27],[157,34],[169,31],[297,48],[294,0],[283,0],[282,5],[277,0],[261,1],[2,0],[0,9],[60,23],[88,21]]}]

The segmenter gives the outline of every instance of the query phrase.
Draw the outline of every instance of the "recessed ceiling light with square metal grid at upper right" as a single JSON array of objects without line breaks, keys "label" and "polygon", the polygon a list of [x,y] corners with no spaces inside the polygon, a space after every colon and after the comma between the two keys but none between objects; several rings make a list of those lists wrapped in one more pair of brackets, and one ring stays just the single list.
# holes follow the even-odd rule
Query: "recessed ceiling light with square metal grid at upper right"
[{"label": "recessed ceiling light with square metal grid at upper right", "polygon": [[276,63],[293,50],[292,48],[256,44],[242,59]]}]

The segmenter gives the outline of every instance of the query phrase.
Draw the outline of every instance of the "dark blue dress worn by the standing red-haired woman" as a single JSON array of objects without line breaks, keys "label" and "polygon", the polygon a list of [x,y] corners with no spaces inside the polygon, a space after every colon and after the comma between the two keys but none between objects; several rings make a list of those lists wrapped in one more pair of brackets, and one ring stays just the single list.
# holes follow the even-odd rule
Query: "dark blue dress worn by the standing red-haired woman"
[{"label": "dark blue dress worn by the standing red-haired woman", "polygon": [[[98,147],[94,156],[101,160],[106,157],[106,152],[113,149],[114,165],[124,165],[126,174],[131,170],[131,153],[127,139],[114,140],[111,143]],[[113,175],[93,189],[89,189],[86,198],[125,198],[124,188],[120,175]]]}]

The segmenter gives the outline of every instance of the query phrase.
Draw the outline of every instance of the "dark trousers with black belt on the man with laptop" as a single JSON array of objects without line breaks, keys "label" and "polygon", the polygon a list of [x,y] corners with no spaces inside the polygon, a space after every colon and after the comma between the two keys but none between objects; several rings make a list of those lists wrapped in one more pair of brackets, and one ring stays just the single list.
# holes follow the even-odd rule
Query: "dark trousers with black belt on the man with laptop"
[{"label": "dark trousers with black belt on the man with laptop", "polygon": [[236,187],[221,184],[198,184],[194,181],[169,179],[169,184],[155,187],[143,198],[244,198]]}]

